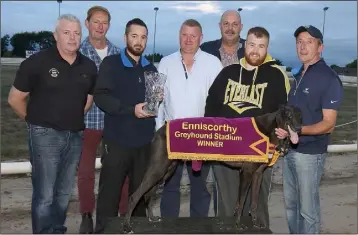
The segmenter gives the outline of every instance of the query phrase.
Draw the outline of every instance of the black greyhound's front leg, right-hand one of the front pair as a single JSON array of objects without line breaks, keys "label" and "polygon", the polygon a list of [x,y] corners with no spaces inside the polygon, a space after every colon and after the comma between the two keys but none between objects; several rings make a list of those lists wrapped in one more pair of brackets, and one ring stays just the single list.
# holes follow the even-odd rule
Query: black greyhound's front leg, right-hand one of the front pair
[{"label": "black greyhound's front leg, right-hand one of the front pair", "polygon": [[252,178],[252,186],[251,186],[251,218],[252,218],[252,225],[256,228],[264,228],[265,226],[258,220],[257,217],[257,203],[259,200],[259,193],[260,187],[263,177],[263,172],[266,168],[267,164],[262,164],[260,167],[255,171],[253,178]]}]

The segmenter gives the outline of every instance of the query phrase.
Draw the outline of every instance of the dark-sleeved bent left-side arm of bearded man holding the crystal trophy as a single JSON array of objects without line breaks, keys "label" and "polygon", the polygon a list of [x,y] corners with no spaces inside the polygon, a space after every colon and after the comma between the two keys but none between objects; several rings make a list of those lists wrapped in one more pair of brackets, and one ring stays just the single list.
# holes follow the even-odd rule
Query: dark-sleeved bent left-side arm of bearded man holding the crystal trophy
[{"label": "dark-sleeved bent left-side arm of bearded man holding the crystal trophy", "polygon": [[106,57],[100,65],[93,95],[94,102],[109,115],[134,115],[134,106],[125,105],[113,96],[114,84],[112,78],[116,74],[116,67],[111,63],[113,59]]}]

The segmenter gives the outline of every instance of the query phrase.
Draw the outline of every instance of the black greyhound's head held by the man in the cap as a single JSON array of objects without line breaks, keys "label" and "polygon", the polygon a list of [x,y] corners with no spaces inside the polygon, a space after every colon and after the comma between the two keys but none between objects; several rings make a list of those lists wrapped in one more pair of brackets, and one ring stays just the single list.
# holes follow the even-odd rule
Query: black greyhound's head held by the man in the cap
[{"label": "black greyhound's head held by the man in the cap", "polygon": [[281,105],[276,115],[277,127],[286,130],[293,144],[298,143],[298,132],[302,126],[301,110],[292,105]]}]

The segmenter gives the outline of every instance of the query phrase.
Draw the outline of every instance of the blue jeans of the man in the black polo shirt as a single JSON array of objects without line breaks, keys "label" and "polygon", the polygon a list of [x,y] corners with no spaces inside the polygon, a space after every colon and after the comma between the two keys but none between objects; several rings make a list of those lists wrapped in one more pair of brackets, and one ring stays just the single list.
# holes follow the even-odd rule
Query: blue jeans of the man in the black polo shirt
[{"label": "blue jeans of the man in the black polo shirt", "polygon": [[32,231],[65,233],[83,131],[57,131],[29,124],[28,133],[33,187]]}]

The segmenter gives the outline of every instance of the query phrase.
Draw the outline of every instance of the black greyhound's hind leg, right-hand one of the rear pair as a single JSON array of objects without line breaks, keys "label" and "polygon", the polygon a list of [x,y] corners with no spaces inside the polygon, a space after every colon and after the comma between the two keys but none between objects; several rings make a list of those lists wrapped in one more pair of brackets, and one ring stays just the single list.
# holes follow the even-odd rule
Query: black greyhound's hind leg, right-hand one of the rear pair
[{"label": "black greyhound's hind leg, right-hand one of the rear pair", "polygon": [[[173,161],[170,164],[167,173],[163,177],[163,181],[166,181],[174,173],[177,165],[178,165],[178,161]],[[159,187],[159,182],[157,182],[157,184],[149,192],[147,192],[144,195],[144,199],[147,203],[148,218],[149,218],[149,221],[151,221],[151,222],[161,221],[161,218],[159,216],[154,216],[154,214],[153,214],[154,196],[158,190],[158,187]]]}]

